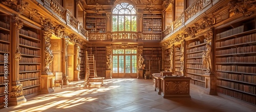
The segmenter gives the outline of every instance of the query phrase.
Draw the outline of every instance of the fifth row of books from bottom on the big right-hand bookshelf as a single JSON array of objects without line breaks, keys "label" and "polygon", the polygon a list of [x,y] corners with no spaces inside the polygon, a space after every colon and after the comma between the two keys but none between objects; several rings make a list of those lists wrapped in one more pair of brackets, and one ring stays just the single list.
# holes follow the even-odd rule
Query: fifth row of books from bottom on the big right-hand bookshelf
[{"label": "fifth row of books from bottom on the big right-hand bookshelf", "polygon": [[216,63],[255,63],[256,56],[216,58]]}]

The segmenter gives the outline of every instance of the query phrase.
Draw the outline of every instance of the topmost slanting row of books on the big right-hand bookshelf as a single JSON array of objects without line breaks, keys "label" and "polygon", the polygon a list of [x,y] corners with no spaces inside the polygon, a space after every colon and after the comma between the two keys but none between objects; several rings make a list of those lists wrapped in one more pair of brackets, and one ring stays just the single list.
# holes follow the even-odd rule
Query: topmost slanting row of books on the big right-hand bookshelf
[{"label": "topmost slanting row of books on the big right-hand bookshelf", "polygon": [[227,37],[227,36],[238,34],[238,33],[242,33],[242,32],[244,32],[244,26],[240,26],[237,28],[233,28],[233,29],[218,33],[218,34],[216,34],[216,39]]}]

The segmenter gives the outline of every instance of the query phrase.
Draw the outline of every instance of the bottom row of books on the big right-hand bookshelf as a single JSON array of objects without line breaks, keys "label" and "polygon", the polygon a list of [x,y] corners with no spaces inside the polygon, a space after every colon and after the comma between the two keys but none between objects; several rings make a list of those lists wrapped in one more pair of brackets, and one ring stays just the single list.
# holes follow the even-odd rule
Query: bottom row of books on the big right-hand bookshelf
[{"label": "bottom row of books on the big right-hand bookshelf", "polygon": [[256,104],[256,96],[242,94],[240,92],[232,91],[230,89],[221,87],[217,87],[217,92],[252,104]]}]

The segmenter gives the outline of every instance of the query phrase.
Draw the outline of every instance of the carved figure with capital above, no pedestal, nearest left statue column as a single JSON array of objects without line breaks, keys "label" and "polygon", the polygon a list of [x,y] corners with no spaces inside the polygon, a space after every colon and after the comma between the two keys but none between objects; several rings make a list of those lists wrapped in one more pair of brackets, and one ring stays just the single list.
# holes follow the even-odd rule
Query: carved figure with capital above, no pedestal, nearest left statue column
[{"label": "carved figure with capital above, no pedestal, nearest left statue column", "polygon": [[49,32],[44,32],[43,36],[46,40],[46,49],[45,49],[45,54],[46,54],[46,58],[45,58],[45,72],[48,74],[51,72],[50,70],[50,65],[53,61],[53,54],[52,54],[52,50],[51,50],[51,36],[52,33]]}]

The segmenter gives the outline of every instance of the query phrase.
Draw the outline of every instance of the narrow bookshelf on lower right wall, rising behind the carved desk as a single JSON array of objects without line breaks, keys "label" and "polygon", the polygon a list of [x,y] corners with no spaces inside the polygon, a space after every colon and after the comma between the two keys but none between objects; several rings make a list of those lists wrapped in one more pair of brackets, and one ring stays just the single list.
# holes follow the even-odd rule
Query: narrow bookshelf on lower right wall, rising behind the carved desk
[{"label": "narrow bookshelf on lower right wall, rising behind the carved desk", "polygon": [[174,47],[174,73],[173,74],[177,74],[179,76],[181,76],[181,49],[180,49],[181,45],[176,45]]}]

